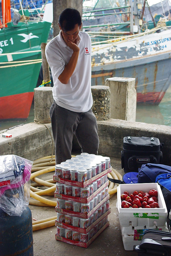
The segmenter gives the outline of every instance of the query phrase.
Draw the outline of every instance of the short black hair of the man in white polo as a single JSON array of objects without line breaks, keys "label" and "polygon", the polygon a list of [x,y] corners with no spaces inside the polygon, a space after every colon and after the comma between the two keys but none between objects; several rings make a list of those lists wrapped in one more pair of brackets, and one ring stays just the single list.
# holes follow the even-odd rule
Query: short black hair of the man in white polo
[{"label": "short black hair of the man in white polo", "polygon": [[75,25],[81,26],[81,15],[74,8],[66,8],[59,16],[59,25],[63,31],[74,29]]}]

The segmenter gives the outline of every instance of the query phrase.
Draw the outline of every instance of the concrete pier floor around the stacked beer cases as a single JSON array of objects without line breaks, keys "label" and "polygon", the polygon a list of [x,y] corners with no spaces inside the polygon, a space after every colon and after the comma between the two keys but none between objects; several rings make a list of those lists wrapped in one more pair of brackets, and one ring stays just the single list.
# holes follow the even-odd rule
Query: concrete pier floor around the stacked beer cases
[{"label": "concrete pier floor around the stacked beer cases", "polygon": [[[78,153],[80,154],[80,153]],[[121,160],[111,158],[111,166],[122,175]],[[39,176],[42,179],[53,178],[54,172]],[[56,198],[50,197],[56,201]],[[55,240],[57,227],[49,227],[42,230],[33,231],[34,256],[134,256],[138,255],[135,251],[126,251],[122,242],[121,230],[116,216],[117,193],[109,200],[111,213],[108,215],[110,221],[107,227],[88,248],[81,248],[72,244],[67,244]],[[32,218],[41,220],[57,215],[54,207],[40,207],[29,205],[32,212]]]}]

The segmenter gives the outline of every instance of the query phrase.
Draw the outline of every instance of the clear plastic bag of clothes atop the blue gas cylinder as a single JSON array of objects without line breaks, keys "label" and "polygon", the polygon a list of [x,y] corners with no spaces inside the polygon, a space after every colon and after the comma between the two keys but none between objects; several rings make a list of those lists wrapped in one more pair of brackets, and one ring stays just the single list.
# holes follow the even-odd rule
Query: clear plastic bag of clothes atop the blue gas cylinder
[{"label": "clear plastic bag of clothes atop the blue gas cylinder", "polygon": [[29,205],[32,165],[17,155],[0,156],[0,208],[10,216],[21,216]]}]

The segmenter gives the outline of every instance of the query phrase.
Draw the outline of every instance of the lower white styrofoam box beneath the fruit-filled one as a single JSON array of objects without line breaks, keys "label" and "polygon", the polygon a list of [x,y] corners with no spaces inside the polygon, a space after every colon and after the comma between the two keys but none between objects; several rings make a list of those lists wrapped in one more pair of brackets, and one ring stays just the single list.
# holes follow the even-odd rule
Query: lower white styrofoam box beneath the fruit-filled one
[{"label": "lower white styrofoam box beneath the fruit-filled one", "polygon": [[[122,231],[125,228],[129,228],[129,227],[122,227]],[[155,226],[154,226],[154,228],[155,228]],[[159,228],[159,227],[157,227],[157,228]],[[160,228],[163,231],[167,231],[168,232],[167,223],[165,224],[164,227],[160,227]],[[130,227],[130,230],[131,230],[131,227]],[[136,245],[140,245],[142,236],[143,236],[144,232],[146,231],[146,229],[142,229],[142,230],[141,229],[139,229],[139,230],[137,229],[136,231],[133,234],[122,234],[123,246],[124,246],[124,249],[126,251],[133,251],[134,247]]]}]

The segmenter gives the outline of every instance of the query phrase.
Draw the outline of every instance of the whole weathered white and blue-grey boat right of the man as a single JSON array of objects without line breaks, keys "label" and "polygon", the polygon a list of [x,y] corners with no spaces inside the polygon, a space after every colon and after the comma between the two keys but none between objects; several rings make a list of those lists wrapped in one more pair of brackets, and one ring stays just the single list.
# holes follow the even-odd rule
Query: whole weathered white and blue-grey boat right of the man
[{"label": "whole weathered white and blue-grey boat right of the man", "polygon": [[[91,84],[104,85],[110,77],[136,78],[137,103],[158,105],[171,84],[171,21],[160,15],[145,24],[145,4],[142,7],[136,0],[127,3],[125,7],[106,8],[104,12],[100,8],[83,12],[89,15],[89,23],[91,19],[97,23],[95,19],[100,17],[104,17],[105,23],[108,16],[110,20],[111,16],[119,16],[121,21],[118,25],[113,19],[113,24],[110,21],[106,26],[99,22],[84,26],[83,19],[83,28],[92,40]],[[97,12],[101,14],[95,16]],[[92,31],[94,28],[96,31]],[[107,36],[109,39],[104,39]]]}]

